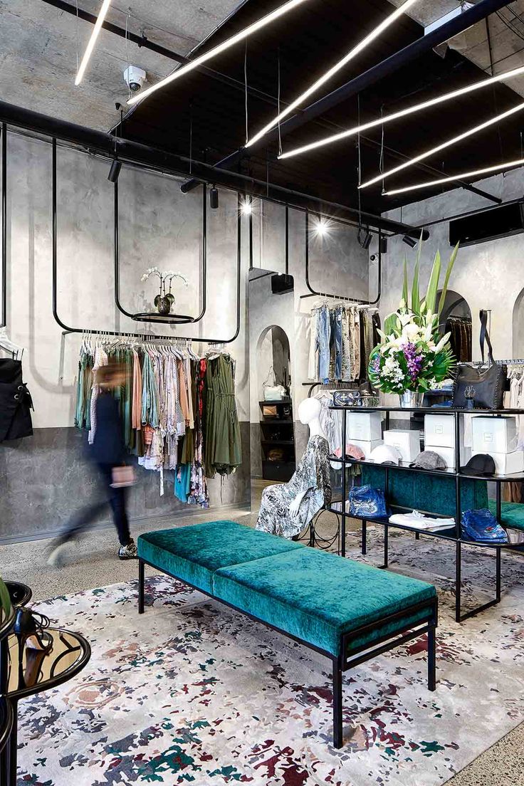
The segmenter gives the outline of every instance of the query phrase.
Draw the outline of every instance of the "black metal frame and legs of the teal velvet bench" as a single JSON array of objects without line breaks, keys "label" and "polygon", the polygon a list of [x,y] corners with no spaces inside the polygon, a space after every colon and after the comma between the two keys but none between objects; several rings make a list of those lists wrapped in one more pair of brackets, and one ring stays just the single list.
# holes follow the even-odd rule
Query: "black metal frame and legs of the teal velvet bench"
[{"label": "black metal frame and legs of the teal velvet bench", "polygon": [[[148,562],[148,560],[143,560],[141,557],[138,558],[138,613],[144,613],[144,596],[145,596],[145,565],[149,565],[149,567],[154,567],[156,571],[161,571],[162,573],[171,576],[171,578],[176,578],[177,581],[181,582],[182,584],[186,584],[187,586],[191,587],[192,589],[196,589],[197,592],[203,593],[203,595],[207,595],[213,601],[218,601],[218,603],[222,603],[229,608],[233,608],[234,611],[240,612],[241,614],[246,615],[249,619],[252,619],[255,623],[262,623],[270,630],[276,630],[277,633],[286,636],[292,641],[296,641],[298,644],[301,644],[308,649],[313,649],[315,652],[319,652],[321,655],[325,656],[326,658],[332,661],[332,670],[333,670],[333,746],[336,748],[343,747],[343,702],[342,702],[342,674],[343,671],[347,671],[350,668],[355,666],[360,666],[361,663],[365,663],[367,660],[371,660],[376,656],[383,655],[384,652],[389,652],[391,649],[398,647],[399,645],[405,644],[406,641],[411,641],[412,639],[419,638],[424,634],[427,634],[427,689],[430,691],[434,691],[437,685],[436,679],[436,628],[438,625],[438,598],[434,597],[431,601],[421,601],[420,603],[413,604],[408,608],[402,609],[401,612],[395,612],[394,614],[389,614],[386,617],[381,617],[380,619],[376,620],[374,623],[368,623],[367,625],[362,625],[361,627],[357,628],[356,630],[351,630],[350,633],[343,634],[341,636],[340,641],[340,652],[341,654],[337,657],[334,656],[332,652],[328,652],[320,647],[316,647],[315,645],[310,644],[308,641],[303,641],[293,634],[288,633],[287,630],[282,630],[282,628],[278,628],[277,626],[271,625],[271,623],[267,623],[264,619],[260,619],[259,617],[255,617],[255,615],[249,614],[249,612],[245,612],[244,609],[238,608],[237,606],[233,606],[233,604],[228,603],[227,601],[222,601],[221,598],[215,597],[210,593],[206,592],[205,589],[200,589],[200,587],[196,587],[193,584],[185,581],[185,579],[180,578],[179,576],[170,573],[163,569],[163,567],[159,567],[158,565],[153,564],[152,562]],[[406,626],[401,628],[401,630],[396,631],[393,635],[385,634],[380,636],[373,642],[372,646],[369,647],[368,645],[352,648],[351,644],[353,641],[361,638],[363,635],[370,634],[374,630],[379,630],[383,626],[387,625],[388,623],[393,623],[396,619],[400,619],[401,617],[416,615],[419,612],[427,611],[427,619],[422,619],[420,622],[416,623],[415,625]]]}]

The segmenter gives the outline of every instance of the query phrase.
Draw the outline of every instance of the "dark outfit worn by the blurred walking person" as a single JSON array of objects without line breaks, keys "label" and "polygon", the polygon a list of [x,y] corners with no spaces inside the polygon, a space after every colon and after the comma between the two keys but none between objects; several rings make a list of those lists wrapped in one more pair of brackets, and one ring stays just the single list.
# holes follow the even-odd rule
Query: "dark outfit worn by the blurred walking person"
[{"label": "dark outfit worn by the blurred walking person", "polygon": [[122,421],[119,407],[111,393],[101,392],[97,396],[97,427],[93,445],[88,456],[97,467],[105,499],[83,509],[72,520],[68,529],[60,536],[60,542],[68,541],[76,534],[89,527],[90,523],[109,503],[113,512],[113,521],[119,534],[120,545],[128,545],[131,541],[129,523],[126,514],[125,488],[112,488],[113,467],[125,464],[125,448],[122,435]]}]

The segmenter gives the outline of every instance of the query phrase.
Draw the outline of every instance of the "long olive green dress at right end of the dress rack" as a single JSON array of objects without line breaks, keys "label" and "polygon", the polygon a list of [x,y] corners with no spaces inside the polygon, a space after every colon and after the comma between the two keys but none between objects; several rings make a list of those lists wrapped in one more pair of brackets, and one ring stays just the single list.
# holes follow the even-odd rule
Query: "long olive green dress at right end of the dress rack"
[{"label": "long olive green dress at right end of the dress rack", "polygon": [[206,476],[230,475],[242,463],[240,425],[236,413],[232,358],[219,354],[207,362],[206,371]]}]

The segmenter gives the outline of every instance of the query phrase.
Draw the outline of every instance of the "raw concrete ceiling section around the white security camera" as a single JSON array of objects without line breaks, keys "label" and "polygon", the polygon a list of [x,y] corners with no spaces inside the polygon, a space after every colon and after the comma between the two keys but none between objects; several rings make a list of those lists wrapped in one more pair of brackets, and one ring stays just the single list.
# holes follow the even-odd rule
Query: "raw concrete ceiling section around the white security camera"
[{"label": "raw concrete ceiling section around the white security camera", "polygon": [[[69,0],[75,6],[75,0]],[[78,0],[97,14],[100,0]],[[187,56],[240,0],[131,0],[130,31]],[[107,20],[126,27],[128,6],[112,2]],[[79,20],[79,58],[93,25]],[[126,43],[101,30],[86,76],[79,87],[77,21],[43,0],[0,0],[0,100],[46,115],[108,130],[118,115],[115,102],[125,104],[123,71],[128,64],[144,68],[149,81],[170,73],[174,61]]]}]

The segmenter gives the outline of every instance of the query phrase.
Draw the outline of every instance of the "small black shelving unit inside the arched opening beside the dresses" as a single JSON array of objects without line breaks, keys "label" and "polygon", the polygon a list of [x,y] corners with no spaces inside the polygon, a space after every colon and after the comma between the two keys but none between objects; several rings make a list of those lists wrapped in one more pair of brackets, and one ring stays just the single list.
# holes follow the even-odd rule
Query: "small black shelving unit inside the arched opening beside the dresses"
[{"label": "small black shelving unit inside the arched opening beside the dresses", "polygon": [[[293,424],[293,404],[291,399],[259,401],[262,412],[260,421],[260,447],[262,450],[262,478],[281,480],[286,483],[295,472],[295,430]],[[275,407],[276,417],[264,417],[265,406]],[[271,458],[270,453],[280,450],[280,461]]]}]

